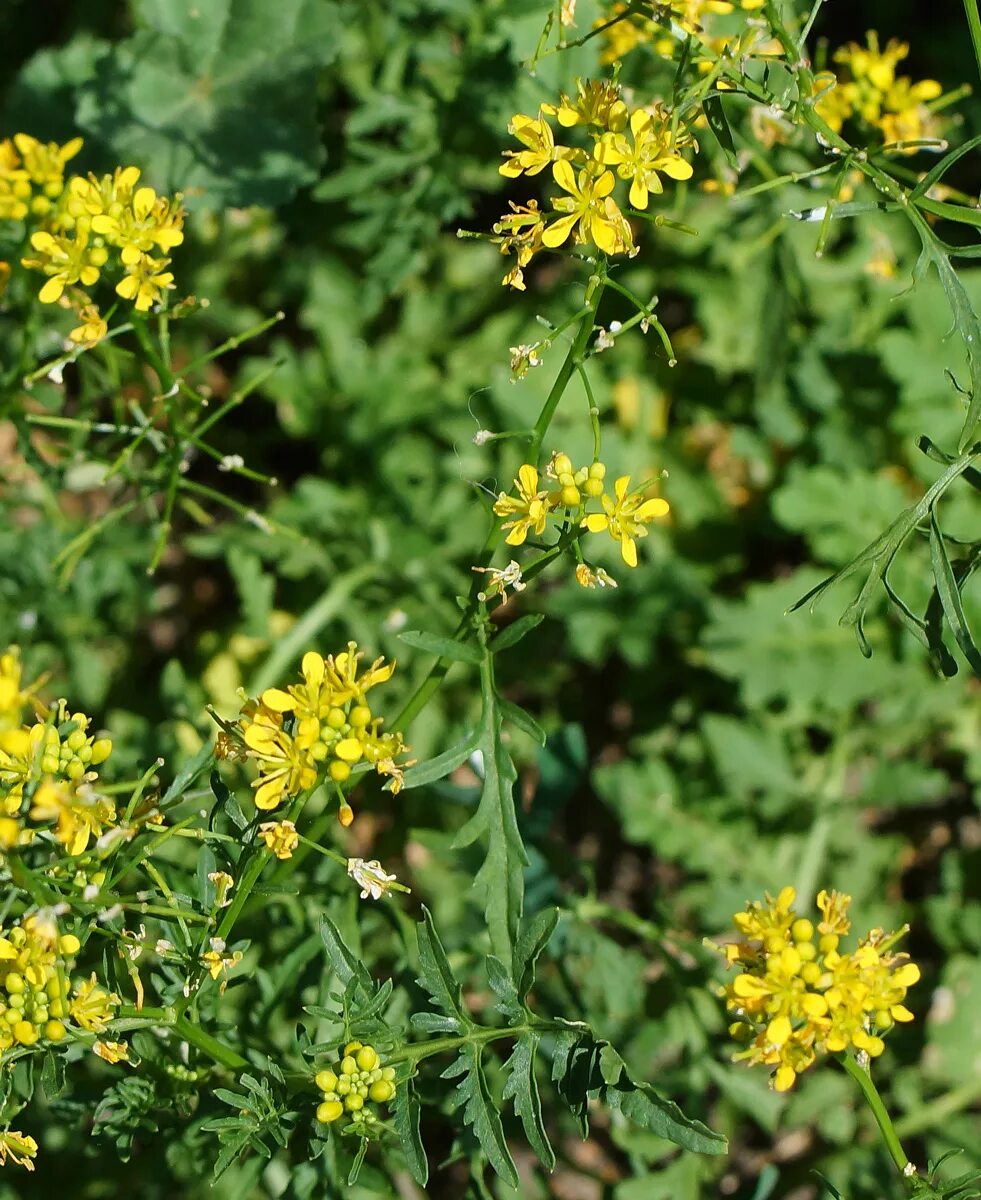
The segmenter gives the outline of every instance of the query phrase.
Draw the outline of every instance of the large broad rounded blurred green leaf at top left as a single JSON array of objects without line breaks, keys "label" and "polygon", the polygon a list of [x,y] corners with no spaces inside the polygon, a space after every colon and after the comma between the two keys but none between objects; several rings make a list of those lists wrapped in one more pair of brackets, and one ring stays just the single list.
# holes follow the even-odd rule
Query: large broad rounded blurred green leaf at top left
[{"label": "large broad rounded blurred green leaf at top left", "polygon": [[82,128],[210,208],[275,205],[323,158],[318,80],[339,16],[321,0],[142,0],[140,29],[83,89]]}]

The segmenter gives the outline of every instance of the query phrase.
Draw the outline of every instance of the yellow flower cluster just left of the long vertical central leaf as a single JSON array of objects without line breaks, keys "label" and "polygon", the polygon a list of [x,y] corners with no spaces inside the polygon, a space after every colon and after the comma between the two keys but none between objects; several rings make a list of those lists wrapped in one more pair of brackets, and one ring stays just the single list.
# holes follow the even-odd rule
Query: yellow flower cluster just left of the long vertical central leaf
[{"label": "yellow flower cluster just left of the long vertical central leaf", "polygon": [[258,809],[275,809],[313,787],[321,772],[343,784],[360,762],[387,775],[392,792],[401,790],[396,760],[405,751],[402,734],[383,733],[383,719],[366,700],[372,688],[391,678],[395,662],[377,659],[359,672],[361,658],[355,642],[326,659],[309,650],[301,665],[302,683],[267,688],[245,706],[239,726],[246,754],[259,768],[253,782]]}]

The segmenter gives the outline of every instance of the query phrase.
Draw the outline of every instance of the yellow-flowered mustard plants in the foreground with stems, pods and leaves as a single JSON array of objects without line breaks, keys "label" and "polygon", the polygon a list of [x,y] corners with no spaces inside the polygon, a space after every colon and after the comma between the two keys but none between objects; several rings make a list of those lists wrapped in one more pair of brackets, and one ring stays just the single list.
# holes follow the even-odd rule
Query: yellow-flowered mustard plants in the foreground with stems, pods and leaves
[{"label": "yellow-flowered mustard plants in the foreground with stems, pods and leaves", "polygon": [[[181,1117],[212,1099],[229,1109],[229,1115],[207,1117],[195,1128],[195,1135],[213,1133],[221,1142],[213,1156],[216,1175],[242,1157],[269,1158],[293,1147],[309,1168],[302,1176],[307,1181],[303,1187],[313,1189],[326,1180],[331,1194],[344,1178],[356,1183],[369,1151],[393,1156],[401,1178],[408,1171],[420,1187],[427,1186],[421,1096],[433,1110],[450,1115],[479,1194],[487,1193],[487,1168],[510,1188],[522,1187],[510,1148],[513,1133],[501,1116],[506,1106],[546,1170],[555,1165],[556,1130],[565,1136],[555,1115],[559,1100],[568,1110],[570,1128],[583,1136],[590,1116],[606,1109],[603,1120],[614,1130],[631,1122],[685,1151],[724,1154],[726,1139],[632,1070],[614,1045],[568,1007],[567,989],[549,986],[548,967],[540,967],[560,914],[546,901],[535,911],[526,906],[525,882],[534,864],[516,803],[512,742],[519,732],[543,744],[544,732],[535,716],[501,694],[498,664],[541,614],[524,613],[508,624],[500,620],[500,610],[513,606],[506,614],[511,617],[518,606],[514,598],[528,601],[530,582],[559,559],[583,588],[616,588],[614,577],[586,554],[610,554],[642,570],[638,541],[658,529],[657,522],[658,536],[672,536],[672,509],[658,494],[663,476],[648,463],[614,461],[609,446],[603,450],[592,360],[634,331],[644,336],[654,330],[656,353],[668,370],[675,365],[657,296],[645,300],[634,292],[625,268],[643,262],[643,254],[656,276],[660,239],[697,233],[675,220],[688,185],[714,184],[720,197],[742,199],[792,178],[813,179],[824,203],[794,216],[820,221],[824,236],[836,212],[844,217],[854,211],[844,205],[855,194],[850,176],[857,172],[920,235],[925,262],[937,268],[951,298],[974,382],[981,378],[974,344],[977,322],[964,306],[956,276],[951,278],[955,251],[928,221],[958,220],[946,206],[938,209],[946,205],[935,193],[943,170],[914,179],[905,174],[910,154],[922,148],[919,143],[935,143],[944,125],[935,103],[941,98],[939,84],[896,74],[905,56],[901,43],[890,41],[880,50],[869,35],[866,47],[851,44],[832,56],[833,73],[814,73],[802,54],[810,25],[788,28],[769,0],[739,6],[722,0],[616,4],[589,32],[570,40],[574,7],[559,6],[537,58],[595,38],[598,72],[619,67],[627,54],[649,53],[676,68],[674,82],[660,92],[645,91],[639,84],[625,85],[608,70],[607,76],[579,79],[574,90],[552,95],[536,113],[516,113],[508,124],[518,149],[504,151],[499,172],[526,187],[525,198],[510,202],[493,230],[477,236],[508,258],[506,286],[537,286],[536,272],[548,262],[564,278],[582,283],[583,299],[571,318],[547,322],[548,332],[538,342],[511,350],[512,377],[520,383],[548,361],[558,343],[567,344],[534,425],[482,430],[475,438],[479,445],[500,442],[505,448],[519,442],[517,462],[504,474],[513,482],[495,491],[486,505],[487,540],[473,556],[479,562],[469,590],[457,598],[457,628],[402,634],[409,649],[434,661],[428,673],[417,672],[416,688],[401,712],[386,721],[379,715],[380,694],[373,691],[390,683],[393,661],[377,658],[367,665],[355,641],[325,654],[313,644],[315,632],[300,624],[295,636],[303,634],[307,641],[293,643],[294,656],[301,654],[293,682],[284,670],[283,678],[252,688],[254,694],[243,690],[237,716],[213,713],[219,726],[215,746],[205,742],[176,770],[162,770],[165,764],[157,760],[138,780],[113,782],[112,738],[89,715],[72,712],[66,700],[44,701],[42,682],[25,684],[16,648],[0,656],[0,868],[10,890],[0,929],[5,1105],[8,1078],[22,1061],[41,1062],[43,1056],[43,1069],[54,1075],[64,1069],[66,1051],[76,1061],[79,1048],[91,1050],[100,1070],[132,1070],[150,1090],[140,1094],[139,1088],[116,1085],[106,1104],[106,1123],[119,1109],[125,1109],[126,1120],[142,1114],[155,1121],[164,1096],[157,1085],[164,1080],[171,1090],[168,1098],[177,1097],[174,1109]],[[717,18],[729,25],[717,25]],[[559,40],[548,46],[552,29],[558,29]],[[780,66],[772,77],[765,70],[771,62]],[[723,97],[751,114],[739,145]],[[853,130],[874,140],[845,140],[844,132]],[[794,160],[793,170],[782,175],[763,151],[786,148],[805,166]],[[134,482],[134,496],[125,502],[127,511],[139,502],[156,504],[160,532],[150,563],[156,570],[179,502],[205,526],[207,515],[201,516],[200,505],[195,512],[194,496],[221,503],[215,488],[197,485],[195,491],[185,476],[198,452],[217,461],[216,469],[233,469],[205,438],[218,414],[241,403],[245,394],[225,400],[215,416],[204,416],[209,397],[188,382],[192,370],[179,367],[170,352],[170,318],[186,314],[181,305],[188,313],[197,307],[189,299],[170,307],[179,277],[170,270],[171,252],[185,236],[181,198],[142,184],[140,170],[132,166],[70,176],[67,166],[80,151],[80,139],[43,145],[19,133],[0,143],[0,220],[23,224],[26,241],[0,286],[14,271],[26,272],[17,282],[30,280],[25,304],[35,317],[40,305],[70,310],[78,322],[66,332],[65,353],[54,364],[36,364],[25,338],[17,380],[48,377],[53,370],[84,364],[88,355],[106,355],[113,364],[112,343],[133,332],[133,353],[156,376],[156,388],[149,412],[134,409],[136,425],[114,420],[113,430],[125,430],[128,440],[113,470],[126,469],[144,443],[164,463],[145,491]],[[893,154],[902,169],[890,169]],[[748,182],[754,169],[763,181]],[[970,212],[970,220],[962,214],[965,224],[976,223],[975,209]],[[631,316],[604,317],[601,324],[601,308],[612,298],[618,312],[626,304]],[[258,331],[272,323],[264,322]],[[219,350],[235,349],[248,336]],[[191,366],[204,367],[218,356],[209,352]],[[546,458],[544,448],[555,436],[550,426],[559,406],[568,404],[573,383],[586,401],[582,424],[585,440],[592,442],[591,455],[573,460],[556,450]],[[935,503],[957,478],[975,470],[977,406],[973,390],[957,454],[935,451],[945,466],[943,486],[932,485],[928,502],[914,504],[851,564],[869,569],[872,586],[885,584],[903,540],[928,518],[938,599],[958,644],[964,638],[958,587],[969,570],[955,575]],[[627,454],[618,443],[618,457]],[[234,469],[251,478],[243,462]],[[251,520],[265,528],[265,518],[253,512]],[[88,545],[85,540],[80,550]],[[510,557],[517,547],[523,547],[520,560]],[[525,558],[528,551],[535,557]],[[868,588],[862,590],[866,601]],[[891,589],[889,595],[935,650],[935,614],[927,628]],[[861,616],[857,611],[854,617],[860,637]],[[477,680],[479,712],[475,706],[459,744],[440,745],[431,758],[410,761],[405,731],[456,666]],[[435,850],[392,847],[393,859],[404,859],[393,871],[381,858],[367,857],[383,854],[375,840],[385,840],[396,805],[410,805],[415,790],[455,773],[469,791],[452,841],[434,842]],[[251,803],[242,804],[246,798]],[[355,804],[365,812],[356,824]],[[183,856],[174,853],[177,847]],[[427,856],[457,853],[468,856],[468,901],[476,904],[480,928],[475,948],[447,953],[428,910],[421,910],[413,928],[411,901],[404,900],[409,887],[399,876],[414,882],[413,871]],[[301,874],[311,860],[317,872]],[[331,912],[343,912],[343,922],[324,917],[319,929],[277,962],[273,941],[246,936],[247,917],[265,924],[264,896],[289,904],[299,887],[311,886],[337,901]],[[869,1102],[909,1194],[939,1196],[943,1189],[934,1188],[932,1175],[917,1172],[905,1159],[868,1075],[869,1062],[884,1052],[885,1036],[897,1022],[913,1019],[905,1001],[920,968],[896,949],[905,930],[872,930],[847,948],[849,902],[842,893],[823,890],[812,920],[798,916],[795,892],[784,887],[736,914],[736,940],[717,947],[736,972],[724,986],[734,1018],[730,1033],[742,1046],[736,1057],[765,1067],[774,1090],[784,1093],[806,1087],[808,1070],[823,1056],[836,1056]],[[397,994],[395,979],[377,978],[390,964],[371,956],[371,935],[378,928],[371,924],[372,910],[405,942],[404,961],[391,967],[404,976]],[[630,928],[624,917],[604,913]],[[639,925],[650,937],[645,923]],[[662,948],[670,946],[675,967],[680,962],[687,970],[687,956],[698,952],[692,943],[678,953],[672,937],[660,932],[657,941]],[[324,968],[307,976],[311,962],[321,958]],[[289,1033],[264,1039],[259,1027],[279,1002],[290,1013]],[[428,1066],[431,1058],[441,1060],[438,1070]],[[552,1106],[544,1111],[543,1085],[554,1085],[547,1093]],[[5,1108],[2,1118],[14,1115]],[[341,1138],[357,1148],[345,1154]],[[0,1164],[30,1170],[38,1152],[32,1136],[10,1128],[0,1133]]]}]

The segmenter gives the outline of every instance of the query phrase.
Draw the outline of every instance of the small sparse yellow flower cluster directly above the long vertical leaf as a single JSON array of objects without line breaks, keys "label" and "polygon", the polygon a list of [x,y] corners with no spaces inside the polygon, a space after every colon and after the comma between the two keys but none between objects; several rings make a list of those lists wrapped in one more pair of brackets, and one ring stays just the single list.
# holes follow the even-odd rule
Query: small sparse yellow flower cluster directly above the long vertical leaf
[{"label": "small sparse yellow flower cluster directly above the long vertical leaf", "polygon": [[[520,546],[530,533],[544,533],[549,517],[559,522],[578,523],[589,533],[608,533],[620,545],[620,554],[627,566],[637,566],[638,538],[646,538],[648,526],[670,511],[667,500],[660,497],[645,499],[646,487],[630,490],[630,475],[621,475],[608,496],[603,480],[607,469],[602,462],[576,470],[568,455],[554,454],[546,468],[544,480],[530,463],[524,463],[514,480],[517,496],[501,492],[494,503],[494,512],[510,517],[502,528],[507,530],[505,541]],[[542,486],[552,482],[554,486]],[[598,500],[602,511],[586,512],[589,500]],[[603,572],[606,577],[606,572]],[[608,577],[606,577],[608,578]],[[595,578],[579,580],[591,587]]]}]

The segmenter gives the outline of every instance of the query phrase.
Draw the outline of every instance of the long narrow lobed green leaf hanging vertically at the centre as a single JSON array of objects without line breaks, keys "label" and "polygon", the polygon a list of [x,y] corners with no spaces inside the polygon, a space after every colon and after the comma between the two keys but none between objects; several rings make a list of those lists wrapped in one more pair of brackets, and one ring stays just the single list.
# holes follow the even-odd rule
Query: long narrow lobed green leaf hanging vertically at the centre
[{"label": "long narrow lobed green leaf hanging vertically at the centre", "polygon": [[479,746],[483,761],[483,788],[477,811],[459,830],[453,847],[470,846],[479,838],[487,844],[487,857],[474,878],[474,888],[483,900],[490,949],[513,972],[528,856],[514,811],[513,786],[518,775],[501,739],[502,716],[489,653],[481,666],[481,694],[483,710]]}]

